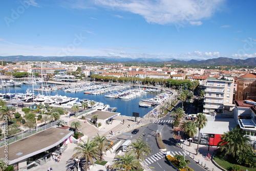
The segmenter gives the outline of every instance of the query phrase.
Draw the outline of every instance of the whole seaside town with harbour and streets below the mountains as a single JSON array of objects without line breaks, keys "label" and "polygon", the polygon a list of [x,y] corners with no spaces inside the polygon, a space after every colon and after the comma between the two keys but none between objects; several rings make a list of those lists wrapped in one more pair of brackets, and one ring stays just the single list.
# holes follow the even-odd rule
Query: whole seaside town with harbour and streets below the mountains
[{"label": "whole seaside town with harbour and streets below the mountains", "polygon": [[[157,170],[160,163],[166,169],[180,167],[172,160],[186,156],[185,168],[223,170],[218,164],[225,156],[222,145],[238,148],[224,138],[234,133],[246,135],[243,143],[253,154],[253,68],[124,65],[2,61],[3,163],[14,170],[115,170],[131,157],[140,168]],[[110,107],[91,97],[116,99],[119,105]],[[138,113],[133,107],[127,113],[128,102],[147,110]],[[142,149],[129,156],[137,148]]]}]

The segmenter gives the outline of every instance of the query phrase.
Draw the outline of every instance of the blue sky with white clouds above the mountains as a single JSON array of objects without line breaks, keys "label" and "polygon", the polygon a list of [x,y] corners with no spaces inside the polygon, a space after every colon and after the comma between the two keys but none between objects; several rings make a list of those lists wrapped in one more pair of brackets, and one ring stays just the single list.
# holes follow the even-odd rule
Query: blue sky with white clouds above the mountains
[{"label": "blue sky with white clouds above the mountains", "polygon": [[0,56],[256,57],[256,2],[0,2]]}]

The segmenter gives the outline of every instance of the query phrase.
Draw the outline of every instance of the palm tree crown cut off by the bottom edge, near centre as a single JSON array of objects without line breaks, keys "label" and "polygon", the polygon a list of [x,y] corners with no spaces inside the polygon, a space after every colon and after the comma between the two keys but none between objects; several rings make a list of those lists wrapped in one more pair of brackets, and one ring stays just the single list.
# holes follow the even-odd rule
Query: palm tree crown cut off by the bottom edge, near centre
[{"label": "palm tree crown cut off by the bottom edge, near centre", "polygon": [[133,153],[125,153],[125,155],[117,156],[115,163],[112,165],[111,169],[117,170],[136,170],[137,168],[141,168],[140,160],[136,158]]}]

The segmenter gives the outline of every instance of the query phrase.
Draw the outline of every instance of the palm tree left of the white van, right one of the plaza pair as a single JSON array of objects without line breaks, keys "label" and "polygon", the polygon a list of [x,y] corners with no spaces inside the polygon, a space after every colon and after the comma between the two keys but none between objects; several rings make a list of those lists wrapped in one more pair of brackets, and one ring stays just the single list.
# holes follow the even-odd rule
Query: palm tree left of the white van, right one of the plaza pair
[{"label": "palm tree left of the white van, right one of the plaza pair", "polygon": [[106,139],[104,135],[100,137],[99,134],[97,134],[93,141],[97,144],[97,149],[99,151],[99,161],[101,163],[103,161],[103,152],[106,153],[106,150],[112,149],[111,141]]}]

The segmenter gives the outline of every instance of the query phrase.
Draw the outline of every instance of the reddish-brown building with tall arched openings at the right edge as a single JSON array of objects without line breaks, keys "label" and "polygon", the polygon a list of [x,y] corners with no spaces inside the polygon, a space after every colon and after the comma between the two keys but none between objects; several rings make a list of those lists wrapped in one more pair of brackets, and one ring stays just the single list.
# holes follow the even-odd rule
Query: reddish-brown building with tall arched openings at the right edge
[{"label": "reddish-brown building with tall arched openings at the right edge", "polygon": [[247,73],[237,79],[237,92],[235,100],[253,100],[256,101],[256,74]]}]

